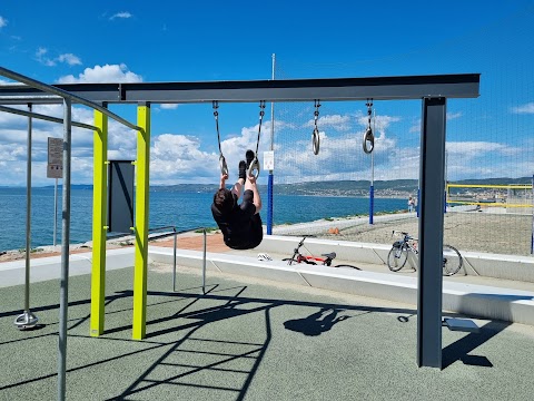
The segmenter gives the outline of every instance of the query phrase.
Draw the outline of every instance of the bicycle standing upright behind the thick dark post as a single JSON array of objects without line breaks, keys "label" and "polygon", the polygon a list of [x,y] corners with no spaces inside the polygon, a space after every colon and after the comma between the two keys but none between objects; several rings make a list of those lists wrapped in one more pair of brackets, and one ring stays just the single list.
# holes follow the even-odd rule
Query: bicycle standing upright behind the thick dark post
[{"label": "bicycle standing upright behind the thick dark post", "polygon": [[[387,254],[387,267],[392,272],[398,272],[406,265],[408,260],[408,252],[414,255],[418,255],[417,238],[414,238],[406,232],[393,231],[392,236],[395,234],[403,235],[403,239],[396,241],[389,253]],[[452,245],[443,245],[443,275],[452,276],[459,272],[464,264],[462,254]],[[414,270],[416,270],[414,267]]]}]

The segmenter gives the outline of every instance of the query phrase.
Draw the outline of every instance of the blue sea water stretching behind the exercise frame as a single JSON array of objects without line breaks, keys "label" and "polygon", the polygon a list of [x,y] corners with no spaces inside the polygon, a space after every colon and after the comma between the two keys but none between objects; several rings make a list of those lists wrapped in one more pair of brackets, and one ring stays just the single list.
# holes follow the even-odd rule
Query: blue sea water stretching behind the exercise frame
[{"label": "blue sea water stretching behind the exercise frame", "polygon": [[[71,190],[70,242],[92,236],[92,189]],[[150,190],[149,227],[176,226],[177,231],[215,227],[211,193]],[[26,248],[26,188],[0,188],[0,251]],[[53,244],[53,187],[32,188],[31,247]],[[267,196],[261,218],[267,224]],[[274,196],[274,224],[304,223],[320,218],[368,215],[369,199],[334,196]],[[406,208],[406,199],[375,198],[375,213]],[[61,190],[58,190],[57,243],[61,243]]]}]

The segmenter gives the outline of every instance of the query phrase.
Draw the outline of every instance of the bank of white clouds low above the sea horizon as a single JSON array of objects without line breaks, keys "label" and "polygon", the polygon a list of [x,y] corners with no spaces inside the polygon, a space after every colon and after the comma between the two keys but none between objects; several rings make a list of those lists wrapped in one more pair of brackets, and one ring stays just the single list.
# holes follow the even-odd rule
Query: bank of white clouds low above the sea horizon
[{"label": "bank of white clouds low above the sea horizon", "polygon": [[[79,79],[102,79],[112,76],[112,80],[126,78],[126,66],[103,66],[86,69]],[[137,77],[137,76],[136,76]],[[21,108],[24,108],[21,106]],[[158,108],[159,109],[159,108]],[[36,113],[62,118],[59,105],[34,106]],[[362,149],[363,133],[367,126],[367,116],[362,113],[335,114],[323,116],[319,121],[320,151],[312,150],[312,129],[309,114],[287,115],[288,121],[277,118],[275,124],[275,175],[276,183],[328,180],[328,179],[369,179],[370,156]],[[93,124],[90,108],[72,108],[73,120]],[[373,121],[375,128],[374,174],[375,179],[412,178],[419,174],[419,149],[412,140],[404,140],[396,125],[402,119],[396,116],[378,115]],[[409,119],[407,119],[409,121]],[[405,121],[406,123],[406,121]],[[261,127],[259,159],[263,151],[270,148],[270,120]],[[0,113],[0,185],[23,185],[26,180],[26,140],[27,118]],[[305,128],[303,128],[305,127]],[[344,130],[336,128],[344,127]],[[345,129],[348,127],[348,129]],[[166,185],[177,183],[217,183],[219,177],[219,153],[216,137],[205,139],[196,133],[169,133],[158,135],[152,127],[150,148],[150,183]],[[72,182],[92,183],[92,131],[81,128],[72,130]],[[243,127],[238,131],[221,138],[222,153],[230,170],[229,180],[237,178],[237,165],[244,158],[245,150],[256,149],[258,125]],[[46,158],[47,138],[62,137],[61,125],[33,120],[33,183],[47,185]],[[109,119],[109,159],[135,159],[137,135],[134,130]],[[510,144],[496,141],[452,141],[447,143],[447,168],[449,179],[465,177],[491,177],[521,175],[524,170],[534,170],[533,163],[522,162],[521,151]],[[526,157],[523,157],[526,159]],[[508,174],[506,174],[506,172]],[[261,172],[260,184],[265,184],[267,172]]]}]

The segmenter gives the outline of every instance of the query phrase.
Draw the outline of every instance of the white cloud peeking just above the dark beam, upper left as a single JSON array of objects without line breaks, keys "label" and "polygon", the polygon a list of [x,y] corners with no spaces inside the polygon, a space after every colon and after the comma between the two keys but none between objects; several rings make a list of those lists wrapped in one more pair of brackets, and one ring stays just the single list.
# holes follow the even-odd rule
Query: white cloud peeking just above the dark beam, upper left
[{"label": "white cloud peeking just above the dark beam, upper left", "polygon": [[58,84],[90,84],[90,82],[141,82],[142,77],[128,70],[125,63],[95,66],[86,68],[76,78],[68,75],[58,79]]}]

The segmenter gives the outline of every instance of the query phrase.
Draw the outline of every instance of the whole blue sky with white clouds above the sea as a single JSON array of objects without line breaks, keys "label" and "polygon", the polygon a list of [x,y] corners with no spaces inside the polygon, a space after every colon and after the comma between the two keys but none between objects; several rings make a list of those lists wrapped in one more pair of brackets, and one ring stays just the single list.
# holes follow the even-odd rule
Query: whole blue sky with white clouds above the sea
[{"label": "whole blue sky with white clouds above the sea", "polygon": [[[52,4],[1,2],[2,67],[47,84],[270,79],[276,53],[277,79],[481,72],[481,98],[447,105],[447,174],[534,173],[532,0]],[[61,116],[59,106],[34,109]],[[134,106],[111,110],[136,120]],[[277,182],[368,179],[365,105],[322,105],[318,156],[310,150],[313,111],[313,104],[275,106]],[[231,179],[255,147],[258,105],[221,105],[219,113]],[[421,101],[376,102],[375,113],[375,178],[417,178]],[[77,106],[73,118],[91,124],[92,111]],[[0,114],[0,185],[26,185],[26,118]],[[134,157],[134,133],[110,128],[108,157]],[[261,130],[260,155],[270,143],[270,105]],[[49,136],[60,137],[61,127],[34,120],[34,185],[51,184]],[[210,105],[154,105],[151,183],[216,183],[217,169]],[[92,133],[73,130],[72,174],[73,183],[92,183]]]}]

